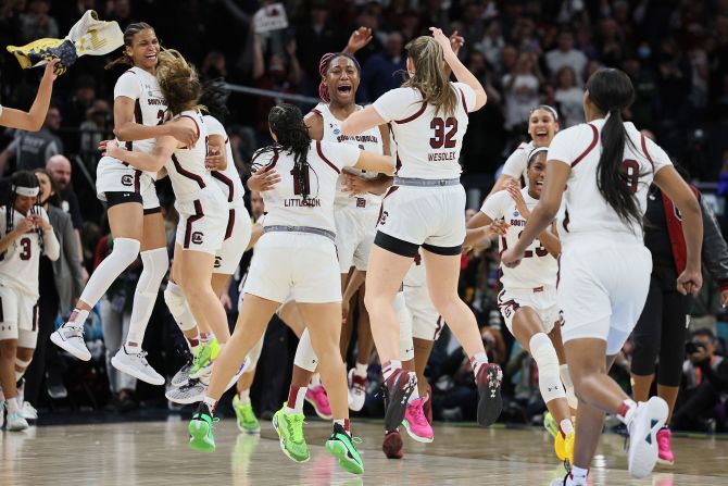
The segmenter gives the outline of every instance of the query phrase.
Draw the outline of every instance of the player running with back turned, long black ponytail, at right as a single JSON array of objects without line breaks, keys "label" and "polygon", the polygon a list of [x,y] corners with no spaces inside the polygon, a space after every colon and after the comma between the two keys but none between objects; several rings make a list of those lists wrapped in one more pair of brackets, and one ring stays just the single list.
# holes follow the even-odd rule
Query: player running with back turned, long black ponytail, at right
[{"label": "player running with back turned, long black ponytail, at right", "polygon": [[554,137],[539,203],[520,238],[502,256],[505,265],[520,262],[556,216],[568,184],[558,230],[557,301],[579,408],[574,465],[563,481],[566,485],[587,484],[604,413],[616,414],[627,425],[632,476],[647,476],[657,460],[656,434],[667,419],[667,404],[658,397],[635,403],[607,375],[648,295],[652,259],[644,248],[642,216],[653,180],[682,213],[687,266],[677,279],[678,289],[696,292],[702,285],[700,205],[667,154],[631,123],[623,122],[622,110],[633,99],[632,84],[622,71],[601,70],[590,76],[583,97],[589,123]]}]

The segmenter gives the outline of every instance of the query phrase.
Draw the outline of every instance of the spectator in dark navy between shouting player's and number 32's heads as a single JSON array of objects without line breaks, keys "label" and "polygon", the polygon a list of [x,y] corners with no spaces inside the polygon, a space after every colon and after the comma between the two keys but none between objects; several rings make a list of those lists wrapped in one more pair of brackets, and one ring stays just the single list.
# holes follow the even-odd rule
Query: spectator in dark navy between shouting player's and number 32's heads
[{"label": "spectator in dark navy between shouting player's and number 32's heads", "polygon": [[363,101],[374,101],[402,85],[402,77],[397,73],[406,70],[406,59],[402,55],[403,42],[402,34],[391,33],[387,37],[385,52],[372,55],[366,62],[359,89]]}]

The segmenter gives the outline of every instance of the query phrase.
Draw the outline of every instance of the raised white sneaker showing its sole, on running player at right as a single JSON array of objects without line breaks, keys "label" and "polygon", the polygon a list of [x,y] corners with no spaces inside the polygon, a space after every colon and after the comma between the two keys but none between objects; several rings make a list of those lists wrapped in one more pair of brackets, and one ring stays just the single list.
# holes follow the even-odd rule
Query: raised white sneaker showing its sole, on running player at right
[{"label": "raised white sneaker showing its sole, on running player at right", "polygon": [[637,404],[629,422],[629,451],[627,464],[632,477],[645,477],[657,462],[657,433],[665,425],[667,402],[660,397]]}]

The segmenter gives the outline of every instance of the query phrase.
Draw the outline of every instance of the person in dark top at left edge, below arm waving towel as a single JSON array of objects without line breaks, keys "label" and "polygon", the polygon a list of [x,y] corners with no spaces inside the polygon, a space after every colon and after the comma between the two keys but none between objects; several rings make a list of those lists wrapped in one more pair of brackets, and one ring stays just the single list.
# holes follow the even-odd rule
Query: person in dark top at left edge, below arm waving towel
[{"label": "person in dark top at left edge, below arm waving towel", "polygon": [[16,171],[42,169],[51,157],[63,153],[63,142],[53,134],[61,127],[61,112],[51,104],[43,126],[38,132],[17,130],[13,141],[0,153],[0,167],[15,159]]}]

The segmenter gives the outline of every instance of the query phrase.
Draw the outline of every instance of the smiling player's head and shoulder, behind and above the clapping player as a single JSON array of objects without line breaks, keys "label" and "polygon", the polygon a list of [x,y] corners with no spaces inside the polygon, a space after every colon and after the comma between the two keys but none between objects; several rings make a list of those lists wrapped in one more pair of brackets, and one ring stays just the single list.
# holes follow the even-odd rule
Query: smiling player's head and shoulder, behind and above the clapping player
[{"label": "smiling player's head and shoulder, behind and above the clapping player", "polygon": [[490,189],[491,195],[505,189],[511,183],[520,183],[520,177],[528,182],[527,165],[528,155],[539,147],[549,147],[551,140],[558,132],[558,113],[553,107],[539,104],[534,108],[528,116],[529,142],[520,144],[503,164],[501,175],[495,185]]}]

